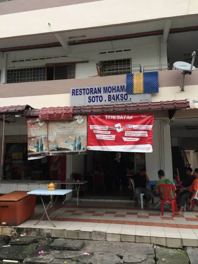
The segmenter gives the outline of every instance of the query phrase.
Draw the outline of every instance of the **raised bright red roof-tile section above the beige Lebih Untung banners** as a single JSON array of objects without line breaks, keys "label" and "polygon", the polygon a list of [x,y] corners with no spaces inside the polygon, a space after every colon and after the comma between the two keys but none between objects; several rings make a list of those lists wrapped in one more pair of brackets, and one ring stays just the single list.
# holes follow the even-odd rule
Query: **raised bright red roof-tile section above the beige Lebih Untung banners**
[{"label": "raised bright red roof-tile section above the beige Lebih Untung banners", "polygon": [[40,120],[72,119],[73,106],[68,107],[43,107],[40,109],[38,118]]}]

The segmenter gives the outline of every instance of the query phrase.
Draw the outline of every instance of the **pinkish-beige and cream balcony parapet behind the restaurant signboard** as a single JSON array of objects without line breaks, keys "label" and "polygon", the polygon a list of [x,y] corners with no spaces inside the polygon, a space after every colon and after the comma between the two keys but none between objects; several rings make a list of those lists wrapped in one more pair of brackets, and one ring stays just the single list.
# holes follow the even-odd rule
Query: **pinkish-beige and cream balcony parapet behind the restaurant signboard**
[{"label": "pinkish-beige and cream balcony parapet behind the restaurant signboard", "polygon": [[[152,94],[152,101],[198,100],[198,75],[185,77],[185,92],[181,92],[180,70],[158,72],[159,92]],[[125,84],[126,75],[88,77],[84,79],[61,79],[52,81],[0,84],[0,106],[31,105],[34,108],[70,106],[70,89],[76,87],[103,87]]]}]

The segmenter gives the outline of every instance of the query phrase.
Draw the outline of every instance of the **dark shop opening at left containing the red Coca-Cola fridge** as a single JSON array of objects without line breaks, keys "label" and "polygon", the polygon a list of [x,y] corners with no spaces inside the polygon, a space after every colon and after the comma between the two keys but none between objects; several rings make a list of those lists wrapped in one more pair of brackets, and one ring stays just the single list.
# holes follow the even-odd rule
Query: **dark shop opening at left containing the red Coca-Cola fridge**
[{"label": "dark shop opening at left containing the red Coca-Cola fridge", "polygon": [[6,138],[4,180],[66,180],[66,156],[28,160],[27,142]]}]

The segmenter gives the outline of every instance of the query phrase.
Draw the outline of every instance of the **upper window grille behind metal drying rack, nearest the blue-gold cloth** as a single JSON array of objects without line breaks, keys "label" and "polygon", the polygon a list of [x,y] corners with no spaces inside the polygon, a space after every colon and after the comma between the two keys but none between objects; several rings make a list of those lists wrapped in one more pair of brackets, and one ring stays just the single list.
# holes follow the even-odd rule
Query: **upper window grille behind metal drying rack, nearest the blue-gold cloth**
[{"label": "upper window grille behind metal drying rack, nearest the blue-gold cloth", "polygon": [[131,73],[131,58],[100,61],[100,76]]}]

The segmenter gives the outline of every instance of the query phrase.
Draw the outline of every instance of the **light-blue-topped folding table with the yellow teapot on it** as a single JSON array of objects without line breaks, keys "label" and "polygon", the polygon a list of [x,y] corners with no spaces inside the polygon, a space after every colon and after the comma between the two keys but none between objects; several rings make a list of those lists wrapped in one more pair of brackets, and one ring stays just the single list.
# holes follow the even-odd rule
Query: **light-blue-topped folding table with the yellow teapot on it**
[{"label": "light-blue-topped folding table with the yellow teapot on it", "polygon": [[[48,190],[38,189],[38,190],[31,191],[31,192],[27,192],[27,194],[40,195],[40,199],[41,199],[41,201],[42,201],[42,203],[43,203],[43,207],[44,207],[44,210],[45,210],[45,212],[43,213],[43,216],[41,217],[41,219],[38,220],[34,225],[38,224],[41,220],[43,220],[43,219],[45,218],[45,214],[46,214],[48,220],[50,221],[50,218],[49,218],[48,213],[47,213],[47,210],[48,210],[50,207],[53,207],[54,212],[56,213],[56,216],[58,216],[58,214],[57,214],[57,212],[56,212],[56,209],[55,209],[55,203],[56,203],[56,201],[57,201],[58,195],[65,195],[65,194],[68,194],[68,193],[70,193],[70,192],[72,192],[72,190],[59,190],[59,189],[57,189],[57,190],[55,190],[55,191],[48,191]],[[42,195],[48,195],[49,198],[50,198],[50,202],[49,202],[47,208],[45,208],[45,204],[44,204],[44,202],[43,202]],[[54,196],[54,195],[57,195],[57,197],[56,197],[56,199],[55,199],[55,202],[53,202],[53,196]],[[58,216],[58,218],[60,218],[60,217]],[[60,219],[61,219],[61,218],[60,218]],[[62,220],[62,219],[61,219],[61,220]],[[51,223],[54,227],[56,227],[51,221],[50,221],[50,223]]]}]

